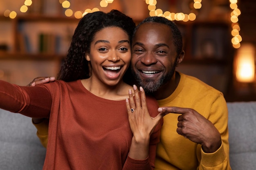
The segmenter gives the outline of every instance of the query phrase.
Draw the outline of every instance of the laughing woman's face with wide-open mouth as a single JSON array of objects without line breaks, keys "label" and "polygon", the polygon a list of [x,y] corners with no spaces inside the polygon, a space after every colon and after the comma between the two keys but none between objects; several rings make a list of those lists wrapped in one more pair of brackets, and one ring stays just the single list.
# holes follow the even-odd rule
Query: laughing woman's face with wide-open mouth
[{"label": "laughing woman's face with wide-open mouth", "polygon": [[97,32],[86,60],[91,62],[93,81],[109,86],[118,84],[131,60],[128,34],[119,27]]}]

